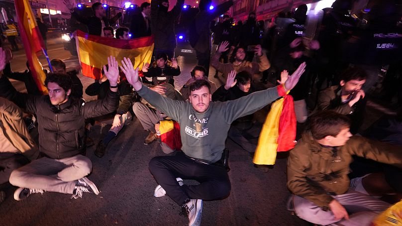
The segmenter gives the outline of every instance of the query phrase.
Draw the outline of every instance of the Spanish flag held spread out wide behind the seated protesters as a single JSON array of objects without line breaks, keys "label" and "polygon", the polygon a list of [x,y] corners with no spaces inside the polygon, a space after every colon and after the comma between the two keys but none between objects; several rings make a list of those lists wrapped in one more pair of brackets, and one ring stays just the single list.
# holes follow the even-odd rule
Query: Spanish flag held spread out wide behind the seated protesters
[{"label": "Spanish flag held spread out wide behind the seated protesters", "polygon": [[154,37],[142,37],[130,40],[106,38],[90,35],[77,30],[76,44],[78,58],[84,76],[101,79],[103,65],[107,64],[107,57],[116,57],[121,62],[124,57],[134,60],[134,68],[142,69],[144,62],[150,63],[154,49]]}]

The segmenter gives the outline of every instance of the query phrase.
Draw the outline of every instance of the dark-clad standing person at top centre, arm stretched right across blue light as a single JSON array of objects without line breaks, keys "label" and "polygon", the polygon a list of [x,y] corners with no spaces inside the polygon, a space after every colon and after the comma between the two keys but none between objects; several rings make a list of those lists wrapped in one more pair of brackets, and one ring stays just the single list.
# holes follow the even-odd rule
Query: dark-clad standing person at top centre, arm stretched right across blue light
[{"label": "dark-clad standing person at top centre, arm stretched right across blue light", "polygon": [[213,10],[209,10],[210,5],[211,0],[200,0],[200,11],[190,25],[190,44],[196,50],[197,64],[205,68],[206,75],[209,75],[211,53],[209,24],[213,18],[226,12],[233,5],[233,1],[225,1],[214,7]]}]

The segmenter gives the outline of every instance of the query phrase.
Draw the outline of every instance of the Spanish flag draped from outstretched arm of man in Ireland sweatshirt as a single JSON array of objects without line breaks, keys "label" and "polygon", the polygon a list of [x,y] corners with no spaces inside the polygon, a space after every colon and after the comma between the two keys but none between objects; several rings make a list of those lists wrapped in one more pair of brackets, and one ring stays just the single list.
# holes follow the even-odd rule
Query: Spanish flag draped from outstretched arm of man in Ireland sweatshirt
[{"label": "Spanish flag draped from outstretched arm of man in Ireland sweatshirt", "polygon": [[293,97],[285,95],[274,102],[262,127],[253,163],[274,165],[278,151],[295,147],[296,114]]}]

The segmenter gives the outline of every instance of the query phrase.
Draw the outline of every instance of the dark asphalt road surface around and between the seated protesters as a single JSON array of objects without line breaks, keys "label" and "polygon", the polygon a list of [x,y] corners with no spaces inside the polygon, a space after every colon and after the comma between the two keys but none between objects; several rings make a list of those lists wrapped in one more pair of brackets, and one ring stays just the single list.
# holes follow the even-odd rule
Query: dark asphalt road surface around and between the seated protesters
[{"label": "dark asphalt road surface around and between the seated protesters", "polygon": [[[50,58],[60,58],[67,63],[68,70],[76,68],[78,58],[63,49],[61,40],[48,42]],[[14,53],[11,62],[13,71],[25,70],[26,57],[23,51]],[[42,59],[42,64],[47,65]],[[182,74],[175,77],[177,89],[190,78],[195,65],[194,59],[178,57]],[[210,78],[214,70],[210,69]],[[84,89],[92,79],[79,75]],[[213,78],[220,86],[223,78]],[[258,82],[259,78],[255,79]],[[23,84],[13,81],[18,90]],[[261,84],[259,85],[261,86]],[[84,96],[86,100],[93,97]],[[257,120],[264,121],[268,109],[259,111]],[[378,118],[381,111],[373,111],[369,120]],[[110,125],[96,125],[90,137],[97,144],[108,131]],[[188,224],[185,216],[180,216],[181,208],[169,197],[155,198],[153,192],[157,183],[148,170],[148,163],[154,156],[166,155],[159,143],[144,145],[148,132],[144,131],[134,116],[113,139],[103,158],[94,155],[96,145],[87,149],[87,156],[93,162],[93,172],[89,176],[101,194],[84,193],[82,198],[70,199],[69,194],[45,192],[33,194],[23,201],[15,201],[15,187],[9,184],[0,186],[6,199],[0,204],[0,225],[4,226],[184,226]],[[257,168],[252,163],[252,154],[242,150],[230,139],[228,173],[231,193],[223,200],[205,201],[202,210],[203,226],[307,226],[308,223],[292,215],[286,209],[290,195],[286,188],[286,154],[277,159],[271,168]],[[185,180],[185,184],[197,184]]]}]

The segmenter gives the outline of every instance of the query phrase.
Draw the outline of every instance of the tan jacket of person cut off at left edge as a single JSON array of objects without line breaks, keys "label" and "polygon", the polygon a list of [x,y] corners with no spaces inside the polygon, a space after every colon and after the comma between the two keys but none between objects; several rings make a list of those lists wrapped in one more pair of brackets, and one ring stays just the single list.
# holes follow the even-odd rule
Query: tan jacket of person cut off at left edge
[{"label": "tan jacket of person cut off at left edge", "polygon": [[1,129],[10,143],[30,160],[38,158],[39,150],[22,120],[22,111],[12,102],[0,98]]}]

